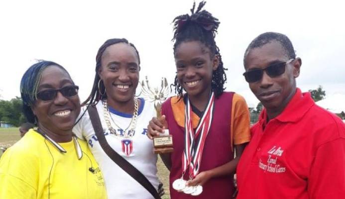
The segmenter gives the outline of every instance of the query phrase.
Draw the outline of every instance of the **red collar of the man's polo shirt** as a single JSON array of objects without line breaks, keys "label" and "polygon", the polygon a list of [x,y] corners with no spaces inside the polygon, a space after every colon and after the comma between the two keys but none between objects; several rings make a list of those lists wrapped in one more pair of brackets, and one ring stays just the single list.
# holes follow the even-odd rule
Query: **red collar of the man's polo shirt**
[{"label": "red collar of the man's polo shirt", "polygon": [[[315,104],[309,92],[302,93],[299,88],[296,89],[295,95],[289,101],[283,112],[273,119],[281,122],[297,122],[304,114]],[[267,112],[264,108],[259,116],[260,124],[265,124]]]}]

